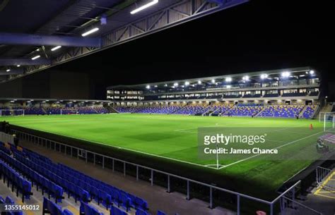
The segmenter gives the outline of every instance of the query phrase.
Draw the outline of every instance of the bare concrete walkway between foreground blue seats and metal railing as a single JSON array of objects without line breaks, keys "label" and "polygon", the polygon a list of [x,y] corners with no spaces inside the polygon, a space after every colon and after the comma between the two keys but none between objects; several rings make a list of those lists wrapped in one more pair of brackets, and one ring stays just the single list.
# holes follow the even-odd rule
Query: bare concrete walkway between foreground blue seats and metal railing
[{"label": "bare concrete walkway between foreground blue seats and metal railing", "polygon": [[122,173],[112,172],[110,169],[102,169],[93,164],[86,164],[85,161],[66,156],[62,153],[52,151],[50,149],[45,149],[37,145],[33,145],[30,142],[21,141],[20,145],[26,147],[34,152],[43,154],[49,157],[54,162],[65,164],[74,168],[78,171],[86,173],[93,178],[114,185],[117,188],[121,188],[127,192],[134,195],[142,197],[148,201],[149,211],[151,214],[155,215],[157,210],[160,209],[165,211],[169,215],[174,215],[175,213],[179,215],[233,215],[236,214],[233,211],[228,211],[221,207],[216,207],[215,209],[208,208],[208,202],[203,202],[199,199],[186,200],[185,195],[178,192],[165,192],[165,188],[161,188],[157,185],[151,186],[150,183],[145,181],[136,181],[136,178],[131,176],[124,177]]}]

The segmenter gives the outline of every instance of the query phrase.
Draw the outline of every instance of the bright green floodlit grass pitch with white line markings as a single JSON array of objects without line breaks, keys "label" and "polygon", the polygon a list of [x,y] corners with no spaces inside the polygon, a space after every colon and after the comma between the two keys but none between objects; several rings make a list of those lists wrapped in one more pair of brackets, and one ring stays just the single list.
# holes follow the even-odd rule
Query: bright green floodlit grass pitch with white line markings
[{"label": "bright green floodlit grass pitch with white line markings", "polygon": [[[63,115],[3,117],[13,125],[42,130],[58,135],[75,137],[110,145],[133,152],[159,156],[172,162],[182,162],[195,168],[208,168],[224,176],[243,178],[264,185],[269,190],[278,189],[286,180],[312,164],[317,159],[315,142],[323,134],[323,124],[312,120],[282,118],[202,117],[148,114]],[[310,130],[310,124],[313,130]],[[198,128],[262,127],[271,134],[271,148],[279,148],[285,159],[271,160],[270,155],[243,156],[233,159],[199,159]],[[249,131],[250,132],[250,131]],[[301,156],[302,149],[310,154]],[[260,159],[264,156],[264,159]]]}]

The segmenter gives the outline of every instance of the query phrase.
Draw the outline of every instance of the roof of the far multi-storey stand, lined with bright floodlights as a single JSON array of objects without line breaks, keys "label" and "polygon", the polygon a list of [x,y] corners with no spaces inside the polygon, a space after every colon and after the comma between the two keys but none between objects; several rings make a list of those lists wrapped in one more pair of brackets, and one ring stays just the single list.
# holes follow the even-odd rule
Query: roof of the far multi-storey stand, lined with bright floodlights
[{"label": "roof of the far multi-storey stand, lined with bright floodlights", "polygon": [[[291,75],[294,73],[303,73],[305,74],[306,72],[310,72],[312,68],[309,66],[306,67],[298,67],[298,68],[282,68],[282,69],[276,69],[276,70],[263,70],[263,71],[257,71],[257,72],[252,72],[252,73],[235,73],[235,74],[230,74],[230,75],[218,75],[218,76],[211,76],[211,77],[205,77],[205,78],[190,78],[190,79],[184,79],[184,80],[170,80],[170,81],[164,81],[164,82],[151,82],[151,83],[143,83],[139,85],[115,85],[115,86],[110,86],[107,87],[107,90],[112,90],[112,89],[144,89],[147,86],[157,86],[157,87],[163,87],[166,85],[171,86],[175,85],[175,83],[182,84],[185,82],[188,82],[189,85],[192,85],[192,83],[197,83],[201,82],[202,84],[205,83],[211,83],[213,80],[215,81],[220,81],[220,80],[225,80],[226,78],[232,78],[232,80],[236,80],[236,78],[239,78],[239,80],[242,80],[242,77],[247,76],[252,80],[253,78],[260,78],[261,75],[268,75],[269,78],[281,78],[281,74],[284,72],[288,72]],[[314,71],[314,70],[313,70]],[[313,74],[315,75],[315,74]]]}]

